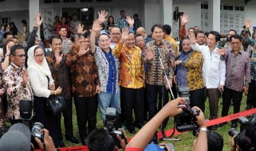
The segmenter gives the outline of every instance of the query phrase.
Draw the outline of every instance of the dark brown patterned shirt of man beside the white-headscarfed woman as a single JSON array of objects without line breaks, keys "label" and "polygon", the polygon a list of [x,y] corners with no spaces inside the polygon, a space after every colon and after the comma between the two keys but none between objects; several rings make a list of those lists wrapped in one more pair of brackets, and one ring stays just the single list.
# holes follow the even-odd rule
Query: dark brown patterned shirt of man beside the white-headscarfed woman
[{"label": "dark brown patterned shirt of man beside the white-headscarfed woman", "polygon": [[56,66],[55,53],[51,51],[50,56],[46,57],[48,66],[52,73],[52,78],[55,80],[55,88],[59,86],[62,88],[61,95],[67,100],[71,98],[71,84],[70,84],[70,71],[66,65],[66,55],[62,56],[62,60],[58,66]]}]

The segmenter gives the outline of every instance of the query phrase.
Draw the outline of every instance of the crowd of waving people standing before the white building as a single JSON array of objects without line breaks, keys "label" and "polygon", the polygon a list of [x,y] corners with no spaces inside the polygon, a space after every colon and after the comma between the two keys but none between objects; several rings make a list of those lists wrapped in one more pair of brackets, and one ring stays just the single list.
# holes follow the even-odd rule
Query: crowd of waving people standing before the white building
[{"label": "crowd of waving people standing before the white building", "polygon": [[[44,108],[48,97],[61,95],[67,104],[63,111],[66,140],[79,143],[73,134],[74,100],[81,144],[89,143],[90,146],[93,142],[89,141],[90,138],[97,134],[97,108],[105,124],[107,108],[113,107],[120,114],[118,119],[122,127],[129,133],[135,133],[134,127],[141,129],[126,146],[127,150],[144,149],[160,124],[165,128],[168,116],[181,112],[176,103],[184,100],[177,98],[176,86],[183,85],[189,89],[190,106],[201,109],[195,148],[205,150],[207,135],[203,132],[208,131],[205,130],[203,113],[206,98],[209,100],[210,120],[218,117],[221,93],[222,117],[228,115],[231,101],[233,113],[240,111],[243,92],[248,93],[246,109],[256,107],[256,42],[247,34],[252,26],[250,19],[246,20],[242,35],[231,29],[227,37],[221,39],[219,32],[200,31],[199,26],[189,28],[187,32],[189,18],[184,14],[178,46],[171,37],[170,25],[155,24],[148,36],[138,14],[131,19],[121,10],[117,24],[112,16],[107,19],[107,14],[106,11],[99,12],[99,18],[89,31],[83,30],[77,14],[72,16],[69,25],[64,16],[61,20],[56,16],[52,26],[56,34],[50,38],[50,54],[36,35],[43,21],[40,14],[35,16],[35,25],[26,36],[25,47],[15,43],[15,33],[4,32],[0,52],[0,127],[5,125],[5,114],[12,125],[21,123],[19,101],[32,101],[34,121],[45,126],[56,148],[65,147],[61,114],[47,115]],[[25,30],[26,21],[21,22]],[[107,22],[107,30],[104,22]],[[175,101],[168,103],[169,100]],[[8,102],[6,112],[4,101]],[[170,108],[173,113],[170,113]],[[145,120],[149,121],[146,125]],[[216,130],[224,124],[208,129]],[[237,120],[232,120],[231,127],[237,127]],[[141,138],[141,133],[148,133],[148,137]],[[142,143],[141,139],[145,142]],[[206,145],[199,146],[199,143]]]}]

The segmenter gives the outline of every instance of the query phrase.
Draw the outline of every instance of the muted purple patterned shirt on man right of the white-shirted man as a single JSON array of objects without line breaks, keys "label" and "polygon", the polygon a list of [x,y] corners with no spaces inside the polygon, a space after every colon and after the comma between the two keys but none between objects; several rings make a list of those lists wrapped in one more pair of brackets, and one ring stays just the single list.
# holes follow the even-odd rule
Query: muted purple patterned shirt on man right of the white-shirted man
[{"label": "muted purple patterned shirt on man right of the white-shirted man", "polygon": [[[249,86],[250,83],[250,58],[245,51],[240,51],[236,55],[232,49],[226,50],[226,81],[225,86],[235,91],[242,91],[243,85]],[[244,75],[246,76],[244,82]]]}]

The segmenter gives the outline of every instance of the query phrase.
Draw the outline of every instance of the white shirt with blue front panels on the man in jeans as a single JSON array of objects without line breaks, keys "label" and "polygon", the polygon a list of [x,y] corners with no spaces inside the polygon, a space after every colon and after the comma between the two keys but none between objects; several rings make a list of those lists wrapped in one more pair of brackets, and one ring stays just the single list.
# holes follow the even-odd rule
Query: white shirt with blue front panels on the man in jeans
[{"label": "white shirt with blue front panels on the man in jeans", "polygon": [[107,54],[100,47],[96,47],[94,57],[99,70],[101,91],[117,93],[120,91],[118,85],[119,59],[113,56],[111,51]]}]

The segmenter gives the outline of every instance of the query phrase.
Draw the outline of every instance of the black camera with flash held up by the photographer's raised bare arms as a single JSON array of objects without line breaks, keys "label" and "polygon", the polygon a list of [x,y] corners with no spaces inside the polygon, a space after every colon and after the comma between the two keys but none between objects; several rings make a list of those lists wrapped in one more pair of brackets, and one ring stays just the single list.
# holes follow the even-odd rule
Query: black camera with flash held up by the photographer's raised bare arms
[{"label": "black camera with flash held up by the photographer's raised bare arms", "polygon": [[179,97],[183,97],[186,101],[179,103],[178,108],[182,108],[182,112],[176,116],[176,129],[178,132],[193,131],[198,129],[197,118],[200,115],[198,109],[189,106],[189,89],[187,86],[177,86],[177,93]]}]

